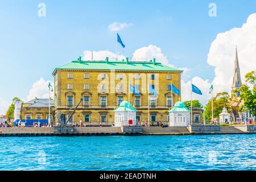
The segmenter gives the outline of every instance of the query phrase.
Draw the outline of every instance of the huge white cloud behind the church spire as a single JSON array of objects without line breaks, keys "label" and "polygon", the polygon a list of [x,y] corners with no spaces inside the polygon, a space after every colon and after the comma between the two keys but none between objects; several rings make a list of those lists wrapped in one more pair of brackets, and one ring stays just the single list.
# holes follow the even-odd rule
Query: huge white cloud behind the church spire
[{"label": "huge white cloud behind the church spire", "polygon": [[251,14],[241,28],[232,28],[220,33],[212,42],[207,62],[215,67],[213,93],[231,91],[236,45],[242,82],[245,83],[246,73],[256,70],[255,32],[256,14]]}]

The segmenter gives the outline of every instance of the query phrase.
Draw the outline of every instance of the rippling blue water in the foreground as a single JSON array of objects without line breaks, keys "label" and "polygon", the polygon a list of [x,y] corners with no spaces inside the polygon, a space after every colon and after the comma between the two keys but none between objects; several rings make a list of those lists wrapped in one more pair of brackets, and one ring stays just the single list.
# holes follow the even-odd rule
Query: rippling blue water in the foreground
[{"label": "rippling blue water in the foreground", "polygon": [[256,135],[0,138],[1,170],[255,170]]}]

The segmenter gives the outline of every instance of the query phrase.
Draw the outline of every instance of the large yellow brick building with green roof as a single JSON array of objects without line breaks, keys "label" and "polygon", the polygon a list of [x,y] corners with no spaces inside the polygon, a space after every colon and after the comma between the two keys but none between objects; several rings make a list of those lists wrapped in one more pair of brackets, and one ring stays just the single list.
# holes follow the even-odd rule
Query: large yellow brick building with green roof
[{"label": "large yellow brick building with green roof", "polygon": [[[137,121],[148,120],[148,84],[158,96],[150,94],[150,119],[166,122],[171,103],[179,96],[171,93],[171,84],[181,90],[181,73],[156,60],[133,61],[77,61],[56,68],[53,71],[55,88],[55,115],[72,113],[72,109],[82,98],[71,118],[72,122],[114,123],[114,109],[124,98],[129,98],[129,83],[140,94],[130,93],[130,103],[137,109]],[[172,100],[173,98],[173,100]],[[68,111],[71,109],[70,111]]]}]

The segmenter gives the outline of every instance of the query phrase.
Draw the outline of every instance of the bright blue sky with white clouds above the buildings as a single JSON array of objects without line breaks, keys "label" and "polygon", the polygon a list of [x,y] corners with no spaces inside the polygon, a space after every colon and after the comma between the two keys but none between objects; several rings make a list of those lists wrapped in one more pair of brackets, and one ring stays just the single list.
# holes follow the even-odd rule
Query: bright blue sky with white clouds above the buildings
[{"label": "bright blue sky with white clouds above the buildings", "polygon": [[[216,16],[209,15],[210,3]],[[0,114],[13,97],[48,97],[56,67],[90,57],[90,51],[96,57],[114,55],[116,32],[125,56],[156,57],[182,68],[182,99],[191,97],[192,81],[203,90],[194,98],[205,104],[212,83],[214,94],[230,92],[236,45],[242,77],[256,70],[255,13],[255,0],[0,0]]]}]

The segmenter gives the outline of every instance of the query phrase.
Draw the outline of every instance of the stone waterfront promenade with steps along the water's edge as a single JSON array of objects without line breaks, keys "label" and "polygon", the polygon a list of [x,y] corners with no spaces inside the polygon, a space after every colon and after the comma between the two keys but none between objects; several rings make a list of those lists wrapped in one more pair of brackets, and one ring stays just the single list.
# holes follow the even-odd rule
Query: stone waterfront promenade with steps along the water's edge
[{"label": "stone waterfront promenade with steps along the water's edge", "polygon": [[256,125],[189,127],[6,127],[0,137],[254,134]]}]

